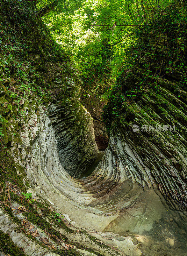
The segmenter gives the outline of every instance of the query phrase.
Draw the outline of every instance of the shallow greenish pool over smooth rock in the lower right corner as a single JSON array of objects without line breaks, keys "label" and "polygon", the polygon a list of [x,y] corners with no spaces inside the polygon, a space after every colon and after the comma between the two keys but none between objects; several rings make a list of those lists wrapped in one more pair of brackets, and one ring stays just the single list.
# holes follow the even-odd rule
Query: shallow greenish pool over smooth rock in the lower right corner
[{"label": "shallow greenish pool over smooth rock in the lower right corner", "polygon": [[123,208],[126,194],[124,200],[122,197],[113,204],[113,210],[116,207],[119,217],[104,229],[105,232],[134,236],[140,244],[145,245],[140,250],[147,256],[187,256],[186,216],[181,217],[179,212],[170,210],[162,203],[164,199],[161,201],[152,189],[143,192],[130,207]]}]

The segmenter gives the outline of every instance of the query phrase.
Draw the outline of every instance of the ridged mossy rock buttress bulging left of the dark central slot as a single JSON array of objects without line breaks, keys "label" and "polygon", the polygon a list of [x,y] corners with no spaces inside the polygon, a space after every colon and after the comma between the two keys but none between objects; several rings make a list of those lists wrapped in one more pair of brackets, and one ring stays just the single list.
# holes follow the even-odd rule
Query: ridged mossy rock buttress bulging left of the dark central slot
[{"label": "ridged mossy rock buttress bulging left of the dark central slot", "polygon": [[69,71],[46,62],[42,76],[51,83],[48,116],[56,134],[60,161],[66,172],[79,178],[97,158],[98,149],[90,113],[80,104],[80,85],[76,69]]}]

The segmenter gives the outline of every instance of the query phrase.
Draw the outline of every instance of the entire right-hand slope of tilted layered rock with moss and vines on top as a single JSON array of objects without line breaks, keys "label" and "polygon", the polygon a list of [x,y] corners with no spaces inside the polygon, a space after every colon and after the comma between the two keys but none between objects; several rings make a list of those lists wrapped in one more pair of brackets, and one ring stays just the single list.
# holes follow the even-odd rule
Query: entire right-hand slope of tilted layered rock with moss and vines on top
[{"label": "entire right-hand slope of tilted layered rock with moss and vines on top", "polygon": [[[153,186],[181,206],[187,202],[186,31],[186,17],[169,8],[138,31],[104,109],[108,131],[119,128]],[[144,174],[135,174],[142,186]]]}]

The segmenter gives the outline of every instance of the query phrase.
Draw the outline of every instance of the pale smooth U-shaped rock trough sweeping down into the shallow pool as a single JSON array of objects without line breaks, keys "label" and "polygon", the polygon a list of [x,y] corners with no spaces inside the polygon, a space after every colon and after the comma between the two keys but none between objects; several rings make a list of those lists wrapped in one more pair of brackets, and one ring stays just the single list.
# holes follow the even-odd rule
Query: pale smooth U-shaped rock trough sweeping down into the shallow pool
[{"label": "pale smooth U-shaped rock trough sweeping down into the shallow pool", "polygon": [[[105,244],[118,246],[125,254],[128,252],[127,255],[142,252],[155,255],[153,252],[158,248],[163,254],[173,255],[176,248],[164,242],[167,237],[178,238],[173,224],[167,220],[171,217],[177,222],[182,220],[163,205],[164,198],[158,191],[155,193],[148,172],[144,176],[144,189],[137,185],[137,181],[141,181],[137,166],[143,167],[121,133],[118,130],[111,133],[109,146],[97,169],[86,179],[75,179],[61,166],[52,123],[43,108],[39,109],[39,116],[31,117],[33,122],[39,120],[38,133],[33,136],[32,158],[26,157],[25,161],[27,178],[33,184],[36,198],[43,198],[56,211],[62,212],[71,225],[87,229]],[[23,137],[27,137],[26,133]],[[27,147],[29,143],[28,140]],[[162,234],[162,242],[154,240],[152,230]],[[159,235],[156,237],[158,239]],[[177,246],[178,255],[182,255],[180,239]]]}]

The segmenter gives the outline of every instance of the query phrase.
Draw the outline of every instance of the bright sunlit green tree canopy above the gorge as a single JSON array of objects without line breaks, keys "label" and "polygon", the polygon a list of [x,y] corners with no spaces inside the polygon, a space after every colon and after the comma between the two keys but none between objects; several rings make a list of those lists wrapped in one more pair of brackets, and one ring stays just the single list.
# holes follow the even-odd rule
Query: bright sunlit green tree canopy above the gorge
[{"label": "bright sunlit green tree canopy above the gorge", "polygon": [[[82,77],[110,72],[116,77],[126,62],[126,48],[166,8],[185,15],[183,1],[33,0],[54,39],[71,53]],[[84,79],[83,79],[84,80]]]}]

